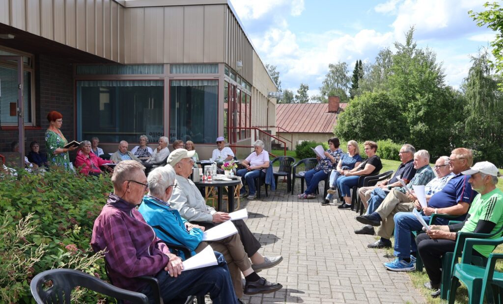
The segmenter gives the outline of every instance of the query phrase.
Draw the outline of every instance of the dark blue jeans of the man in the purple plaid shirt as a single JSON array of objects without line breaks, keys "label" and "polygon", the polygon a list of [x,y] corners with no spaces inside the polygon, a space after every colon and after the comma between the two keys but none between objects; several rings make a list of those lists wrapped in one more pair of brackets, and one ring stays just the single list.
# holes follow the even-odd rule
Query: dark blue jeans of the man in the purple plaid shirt
[{"label": "dark blue jeans of the man in the purple plaid shirt", "polygon": [[[225,258],[216,251],[215,257],[218,262],[217,266],[187,270],[178,277],[171,277],[164,269],[157,273],[155,277],[159,281],[160,295],[164,303],[186,299],[189,295],[204,295],[208,292],[213,303],[236,303],[237,299]],[[146,294],[149,302],[153,303],[150,286],[140,292]]]}]

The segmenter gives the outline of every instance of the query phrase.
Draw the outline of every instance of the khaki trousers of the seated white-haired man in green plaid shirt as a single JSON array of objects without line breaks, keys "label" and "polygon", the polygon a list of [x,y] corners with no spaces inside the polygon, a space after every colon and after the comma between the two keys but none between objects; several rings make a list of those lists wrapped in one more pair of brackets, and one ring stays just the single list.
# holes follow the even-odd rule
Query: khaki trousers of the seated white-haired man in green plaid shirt
[{"label": "khaki trousers of the seated white-haired man in green plaid shirt", "polygon": [[414,203],[407,195],[395,189],[391,190],[376,210],[382,219],[381,226],[377,227],[376,234],[383,239],[389,240],[395,229],[393,216],[398,212],[411,212],[412,208],[414,208]]}]

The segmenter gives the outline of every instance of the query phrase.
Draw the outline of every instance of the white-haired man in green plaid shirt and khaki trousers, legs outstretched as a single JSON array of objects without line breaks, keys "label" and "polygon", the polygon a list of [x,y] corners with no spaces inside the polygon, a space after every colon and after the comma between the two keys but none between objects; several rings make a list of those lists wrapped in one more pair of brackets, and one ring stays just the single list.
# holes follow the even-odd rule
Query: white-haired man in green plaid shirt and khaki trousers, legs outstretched
[{"label": "white-haired man in green plaid shirt and khaki trousers, legs outstretched", "polygon": [[[443,160],[437,160],[438,163],[444,162]],[[411,189],[413,185],[426,185],[435,179],[435,173],[429,165],[430,163],[430,153],[426,150],[419,150],[414,154],[413,166],[416,170],[414,177],[410,180],[409,188]],[[449,169],[447,169],[449,173]],[[444,183],[445,184],[445,183]],[[408,197],[404,187],[396,187],[391,192],[386,195],[383,203],[374,213],[367,214],[364,216],[356,217],[356,220],[360,223],[366,224],[360,230],[356,230],[356,234],[374,234],[374,228],[372,226],[379,226],[378,234],[381,239],[375,243],[369,244],[369,248],[382,248],[391,247],[391,241],[389,240],[394,229],[393,216],[398,211],[409,210],[413,200]],[[380,219],[384,219],[382,224],[380,221],[374,220],[379,216]]]}]

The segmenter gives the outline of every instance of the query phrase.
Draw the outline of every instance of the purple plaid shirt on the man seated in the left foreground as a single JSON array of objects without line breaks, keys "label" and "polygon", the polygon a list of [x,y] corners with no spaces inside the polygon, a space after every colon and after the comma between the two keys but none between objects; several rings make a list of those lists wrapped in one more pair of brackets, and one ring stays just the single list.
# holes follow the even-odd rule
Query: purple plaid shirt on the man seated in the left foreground
[{"label": "purple plaid shirt on the man seated in the left foreground", "polygon": [[117,287],[139,291],[135,277],[155,276],[170,260],[170,250],[155,236],[134,205],[110,193],[93,227],[93,250],[106,249],[109,277]]}]

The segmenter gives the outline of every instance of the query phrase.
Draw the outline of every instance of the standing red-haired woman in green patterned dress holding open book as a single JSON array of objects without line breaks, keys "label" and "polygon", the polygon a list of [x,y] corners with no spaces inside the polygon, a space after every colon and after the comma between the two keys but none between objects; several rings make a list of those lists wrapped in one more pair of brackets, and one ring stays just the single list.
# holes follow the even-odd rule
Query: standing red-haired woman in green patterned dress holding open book
[{"label": "standing red-haired woman in green patterned dress holding open book", "polygon": [[73,151],[77,147],[64,147],[68,141],[59,130],[63,124],[63,115],[61,113],[51,111],[47,114],[47,120],[49,121],[49,128],[45,132],[45,150],[47,151],[49,165],[62,167],[69,171],[71,170],[71,163],[68,151]]}]

